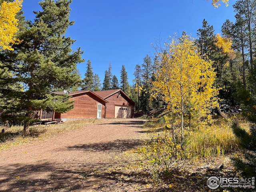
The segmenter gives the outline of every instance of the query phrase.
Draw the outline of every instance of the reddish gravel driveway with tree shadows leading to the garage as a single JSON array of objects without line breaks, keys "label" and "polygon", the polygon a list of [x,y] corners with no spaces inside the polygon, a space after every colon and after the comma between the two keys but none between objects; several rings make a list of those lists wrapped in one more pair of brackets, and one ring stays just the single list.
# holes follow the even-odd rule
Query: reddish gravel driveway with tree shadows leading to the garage
[{"label": "reddish gravel driveway with tree shadows leading to the garage", "polygon": [[141,119],[104,119],[2,150],[0,191],[134,191],[140,184],[125,182],[129,158],[123,152],[142,143],[142,124]]}]

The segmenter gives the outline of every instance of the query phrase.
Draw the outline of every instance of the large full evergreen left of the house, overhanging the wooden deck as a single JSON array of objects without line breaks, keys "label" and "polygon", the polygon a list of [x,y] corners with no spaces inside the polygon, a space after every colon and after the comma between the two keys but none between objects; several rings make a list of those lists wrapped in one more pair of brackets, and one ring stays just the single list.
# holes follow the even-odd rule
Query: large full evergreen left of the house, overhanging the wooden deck
[{"label": "large full evergreen left of the house, overhanging the wooden deck", "polygon": [[[8,68],[12,77],[2,78],[0,92],[5,100],[5,118],[24,124],[24,131],[31,122],[33,110],[67,112],[73,108],[69,96],[52,95],[55,90],[72,90],[80,83],[76,64],[82,62],[80,48],[73,51],[74,43],[65,33],[70,22],[70,0],[44,0],[42,11],[34,12],[34,22],[23,23],[17,33],[22,40],[13,45],[14,52],[0,55],[1,68]],[[3,85],[10,83],[8,88]],[[17,83],[22,91],[12,88]],[[16,114],[12,116],[10,114]]]}]

